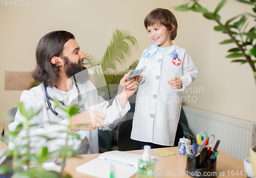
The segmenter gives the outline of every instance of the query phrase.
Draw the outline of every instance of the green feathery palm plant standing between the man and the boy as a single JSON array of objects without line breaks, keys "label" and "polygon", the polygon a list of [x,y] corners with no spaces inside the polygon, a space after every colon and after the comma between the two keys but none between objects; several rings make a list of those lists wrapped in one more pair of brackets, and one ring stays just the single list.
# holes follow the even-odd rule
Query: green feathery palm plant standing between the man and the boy
[{"label": "green feathery palm plant standing between the man and the boy", "polygon": [[[130,50],[130,46],[126,41],[130,41],[132,45],[137,43],[136,39],[130,36],[127,31],[115,30],[112,35],[112,40],[106,48],[104,56],[100,61],[95,61],[95,59],[90,55],[84,60],[84,65],[88,68],[97,68],[100,66],[100,71],[95,69],[94,78],[96,82],[96,87],[98,89],[98,94],[101,95],[104,99],[111,99],[117,94],[118,84],[123,78],[123,75],[130,70],[134,70],[139,63],[139,60],[134,61],[129,68],[121,72],[112,72],[113,69],[116,69],[116,63],[124,59],[124,54],[127,54]],[[106,82],[105,88],[100,88],[101,80],[98,76],[99,73],[104,75],[104,82]],[[103,94],[102,94],[103,93]]]}]

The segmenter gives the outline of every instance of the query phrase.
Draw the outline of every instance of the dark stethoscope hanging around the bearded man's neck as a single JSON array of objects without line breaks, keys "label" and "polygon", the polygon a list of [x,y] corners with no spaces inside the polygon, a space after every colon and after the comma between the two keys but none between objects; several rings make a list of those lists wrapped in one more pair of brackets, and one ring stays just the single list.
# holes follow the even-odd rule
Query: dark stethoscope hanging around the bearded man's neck
[{"label": "dark stethoscope hanging around the bearded man's neck", "polygon": [[[77,93],[78,93],[78,96],[77,96],[77,97],[78,97],[78,101],[79,101],[79,104],[80,104],[80,101],[82,100],[82,96],[81,96],[80,90],[79,90],[79,88],[78,88],[78,86],[77,86],[75,75],[73,75],[73,77],[74,77],[74,82],[75,82],[76,89],[77,89]],[[46,87],[46,84],[45,84],[45,83],[44,83],[44,90],[45,90],[46,100],[47,100],[47,105],[48,105],[47,109],[50,109],[53,114],[55,114],[56,116],[59,116],[59,114],[58,114],[56,111],[54,111],[54,110],[52,109],[52,105],[51,105],[51,103],[50,103],[50,100],[53,101],[53,98],[50,97],[49,94],[47,93],[47,87]],[[58,100],[58,102],[59,102],[62,106],[65,106],[65,103],[63,103],[62,101]],[[86,110],[84,109],[84,106],[81,105],[81,107],[80,107],[80,113],[82,113],[82,112],[84,112],[84,111],[86,111]],[[61,116],[59,116],[59,117],[61,117]],[[62,118],[62,117],[61,117],[61,118]]]}]

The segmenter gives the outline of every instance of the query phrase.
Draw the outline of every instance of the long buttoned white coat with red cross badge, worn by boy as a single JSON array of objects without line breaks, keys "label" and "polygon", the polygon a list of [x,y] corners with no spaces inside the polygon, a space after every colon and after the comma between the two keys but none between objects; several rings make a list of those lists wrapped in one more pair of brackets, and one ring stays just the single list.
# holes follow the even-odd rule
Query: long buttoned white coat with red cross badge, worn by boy
[{"label": "long buttoned white coat with red cross badge, worn by boy", "polygon": [[[176,50],[178,58],[171,58]],[[143,54],[153,54],[151,49]],[[197,77],[197,68],[185,49],[175,44],[164,54],[141,57],[136,69],[146,66],[139,82],[131,138],[173,146],[181,109],[181,96]],[[172,89],[167,81],[179,77],[182,88]]]}]

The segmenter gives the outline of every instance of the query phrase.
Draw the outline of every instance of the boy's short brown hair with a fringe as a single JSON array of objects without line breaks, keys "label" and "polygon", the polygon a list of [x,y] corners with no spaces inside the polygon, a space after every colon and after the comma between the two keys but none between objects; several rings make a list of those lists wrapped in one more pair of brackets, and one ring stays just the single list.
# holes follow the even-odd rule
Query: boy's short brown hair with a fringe
[{"label": "boy's short brown hair with a fringe", "polygon": [[[170,31],[170,39],[174,40],[177,36],[178,22],[175,15],[167,9],[154,9],[144,19],[144,26],[147,29],[154,24],[162,25]],[[172,32],[173,31],[173,32]]]}]

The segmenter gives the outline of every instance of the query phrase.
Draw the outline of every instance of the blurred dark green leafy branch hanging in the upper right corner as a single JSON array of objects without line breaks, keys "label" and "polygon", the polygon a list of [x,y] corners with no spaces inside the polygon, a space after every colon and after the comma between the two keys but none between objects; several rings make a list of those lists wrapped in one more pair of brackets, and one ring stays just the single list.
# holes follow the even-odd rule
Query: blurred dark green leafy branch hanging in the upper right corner
[{"label": "blurred dark green leafy branch hanging in the upper right corner", "polygon": [[[252,11],[256,13],[256,0],[238,0],[238,2],[246,3],[252,5]],[[229,36],[228,39],[220,42],[220,44],[234,43],[236,47],[228,50],[230,53],[226,58],[236,58],[231,62],[239,62],[241,64],[249,63],[256,82],[256,69],[255,69],[255,57],[256,57],[256,27],[253,24],[253,27],[247,28],[248,26],[248,17],[254,18],[256,21],[256,16],[251,13],[239,14],[231,19],[227,20],[226,23],[220,21],[221,16],[218,14],[219,10],[226,3],[226,0],[222,0],[218,6],[215,8],[214,12],[209,12],[206,8],[202,7],[197,0],[189,0],[188,3],[175,8],[177,11],[195,11],[203,13],[204,17],[210,20],[214,20],[218,23],[218,26],[215,26],[215,31],[220,31]]]}]

